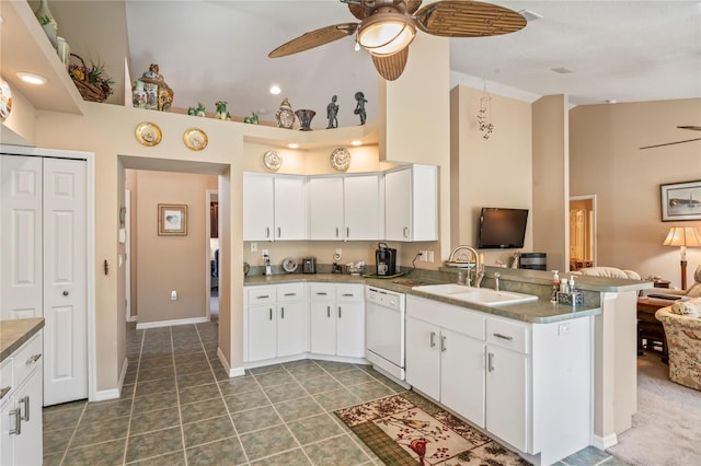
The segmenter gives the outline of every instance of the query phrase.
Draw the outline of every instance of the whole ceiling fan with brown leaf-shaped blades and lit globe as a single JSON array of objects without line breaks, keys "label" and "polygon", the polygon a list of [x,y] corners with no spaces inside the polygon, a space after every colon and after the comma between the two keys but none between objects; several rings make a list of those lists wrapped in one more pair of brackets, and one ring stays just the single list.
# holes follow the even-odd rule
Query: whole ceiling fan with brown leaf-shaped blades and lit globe
[{"label": "whole ceiling fan with brown leaf-shaped blades and lit globe", "polygon": [[394,81],[404,71],[416,30],[443,37],[485,37],[526,26],[526,19],[504,7],[479,1],[439,0],[420,9],[422,0],[340,0],[359,23],[341,23],[310,31],[268,54],[285,57],[357,33],[382,78]]}]

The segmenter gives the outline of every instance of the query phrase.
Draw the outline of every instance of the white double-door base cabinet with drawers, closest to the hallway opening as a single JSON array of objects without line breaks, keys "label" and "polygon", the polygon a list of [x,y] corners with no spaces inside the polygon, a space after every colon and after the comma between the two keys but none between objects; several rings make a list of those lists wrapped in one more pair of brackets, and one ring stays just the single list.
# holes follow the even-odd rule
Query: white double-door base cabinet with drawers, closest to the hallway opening
[{"label": "white double-door base cabinet with drawers, closest to the hallway opening", "polygon": [[246,287],[245,361],[307,351],[307,307],[302,283]]}]

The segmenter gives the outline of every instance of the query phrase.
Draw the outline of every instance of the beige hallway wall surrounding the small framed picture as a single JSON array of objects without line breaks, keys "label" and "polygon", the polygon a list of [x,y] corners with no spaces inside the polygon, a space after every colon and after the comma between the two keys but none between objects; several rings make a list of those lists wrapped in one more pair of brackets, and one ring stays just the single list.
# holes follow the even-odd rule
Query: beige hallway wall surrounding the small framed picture
[{"label": "beige hallway wall surrounding the small framed picture", "polygon": [[[138,220],[133,234],[138,245],[133,259],[139,277],[134,281],[139,324],[208,317],[207,189],[217,189],[216,176],[137,171],[133,209]],[[158,234],[159,203],[187,207],[187,235]]]}]

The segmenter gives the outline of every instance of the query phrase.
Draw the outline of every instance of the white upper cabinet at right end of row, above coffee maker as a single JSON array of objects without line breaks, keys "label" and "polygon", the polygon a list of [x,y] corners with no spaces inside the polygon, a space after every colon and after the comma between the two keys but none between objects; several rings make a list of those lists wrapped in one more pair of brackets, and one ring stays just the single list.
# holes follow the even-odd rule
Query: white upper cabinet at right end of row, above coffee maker
[{"label": "white upper cabinet at right end of row, above coffee maker", "polygon": [[438,168],[411,165],[384,174],[384,238],[438,240]]}]

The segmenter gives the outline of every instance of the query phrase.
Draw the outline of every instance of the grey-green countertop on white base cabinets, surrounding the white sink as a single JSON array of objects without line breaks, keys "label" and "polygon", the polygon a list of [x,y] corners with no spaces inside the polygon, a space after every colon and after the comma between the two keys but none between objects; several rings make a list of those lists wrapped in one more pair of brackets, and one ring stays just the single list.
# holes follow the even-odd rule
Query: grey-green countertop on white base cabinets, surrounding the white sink
[{"label": "grey-green countertop on white base cabinets, surrounding the white sink", "polygon": [[[502,276],[504,278],[504,275]],[[418,284],[435,284],[445,283],[445,281],[434,281],[429,279],[414,279],[409,277],[397,277],[390,279],[370,278],[363,276],[350,276],[347,273],[287,273],[287,275],[274,275],[271,277],[256,276],[246,277],[246,286],[258,284],[281,284],[294,282],[338,282],[338,283],[360,283],[369,284],[372,287],[382,288],[384,290],[395,291],[399,293],[413,294],[421,298],[428,298],[436,301],[440,301],[447,304],[457,305],[460,307],[467,307],[474,311],[480,311],[502,317],[508,317],[516,321],[528,322],[531,324],[547,324],[551,322],[568,321],[577,317],[586,317],[590,315],[598,315],[601,313],[601,308],[598,306],[577,306],[572,307],[567,305],[553,304],[549,300],[542,298],[538,301],[527,303],[516,303],[503,306],[483,306],[479,304],[466,303],[464,301],[451,300],[449,298],[437,296],[435,294],[424,293],[422,291],[412,290],[412,287]],[[623,283],[629,286],[629,283]],[[609,284],[606,288],[614,287]]]}]

